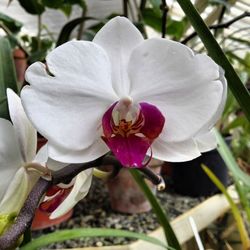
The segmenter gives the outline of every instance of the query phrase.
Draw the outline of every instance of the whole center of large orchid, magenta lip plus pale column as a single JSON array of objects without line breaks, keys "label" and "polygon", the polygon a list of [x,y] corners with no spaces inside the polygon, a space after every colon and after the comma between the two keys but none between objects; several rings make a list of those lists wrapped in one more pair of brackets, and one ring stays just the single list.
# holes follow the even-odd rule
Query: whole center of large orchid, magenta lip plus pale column
[{"label": "whole center of large orchid, magenta lip plus pale column", "polygon": [[143,167],[145,156],[160,135],[165,118],[149,103],[122,98],[103,115],[102,139],[125,167]]}]

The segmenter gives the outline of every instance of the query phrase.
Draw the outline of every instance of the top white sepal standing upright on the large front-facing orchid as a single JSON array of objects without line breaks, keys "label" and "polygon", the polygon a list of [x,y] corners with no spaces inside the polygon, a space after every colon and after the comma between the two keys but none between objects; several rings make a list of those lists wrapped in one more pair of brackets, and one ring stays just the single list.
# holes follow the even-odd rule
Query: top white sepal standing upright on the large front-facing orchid
[{"label": "top white sepal standing upright on the large front-facing orchid", "polygon": [[143,37],[139,30],[124,17],[111,19],[93,40],[109,55],[112,65],[112,84],[120,97],[126,96],[129,91],[127,67],[130,54],[142,41]]}]

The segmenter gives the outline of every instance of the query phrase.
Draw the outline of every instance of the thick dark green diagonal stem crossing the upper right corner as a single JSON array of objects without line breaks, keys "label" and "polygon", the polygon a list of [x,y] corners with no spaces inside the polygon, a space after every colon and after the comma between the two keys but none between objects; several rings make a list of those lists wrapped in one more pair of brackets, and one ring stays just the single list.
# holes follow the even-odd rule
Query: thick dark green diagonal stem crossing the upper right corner
[{"label": "thick dark green diagonal stem crossing the upper right corner", "polygon": [[235,96],[236,100],[243,109],[246,117],[250,121],[250,94],[244,84],[241,82],[239,76],[228,61],[221,47],[209,31],[208,27],[202,20],[199,13],[194,8],[190,0],[177,0],[182,10],[185,12],[192,26],[198,33],[204,46],[209,52],[209,55],[218,63],[224,70],[228,85]]}]

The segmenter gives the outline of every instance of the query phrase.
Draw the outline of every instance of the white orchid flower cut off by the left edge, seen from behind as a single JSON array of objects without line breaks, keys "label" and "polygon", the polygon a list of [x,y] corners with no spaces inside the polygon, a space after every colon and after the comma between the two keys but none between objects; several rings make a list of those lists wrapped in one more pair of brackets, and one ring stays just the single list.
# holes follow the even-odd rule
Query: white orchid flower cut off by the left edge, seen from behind
[{"label": "white orchid flower cut off by the left edge, seen from behind", "polygon": [[[28,173],[29,163],[44,161],[44,150],[36,156],[37,135],[22,108],[20,98],[7,90],[11,121],[0,119],[0,215],[17,214],[38,178]],[[39,161],[38,161],[39,159]]]}]

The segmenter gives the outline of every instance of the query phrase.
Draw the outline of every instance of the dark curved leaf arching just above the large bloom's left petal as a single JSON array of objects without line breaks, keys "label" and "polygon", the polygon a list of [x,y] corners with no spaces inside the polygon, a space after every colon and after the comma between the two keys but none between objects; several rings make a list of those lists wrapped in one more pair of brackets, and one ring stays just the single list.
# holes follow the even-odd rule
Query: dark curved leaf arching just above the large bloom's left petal
[{"label": "dark curved leaf arching just above the large bloom's left petal", "polygon": [[96,20],[94,17],[79,17],[76,19],[73,19],[72,21],[66,23],[58,37],[58,40],[56,42],[56,47],[66,43],[70,39],[71,32],[82,22],[86,20]]}]

